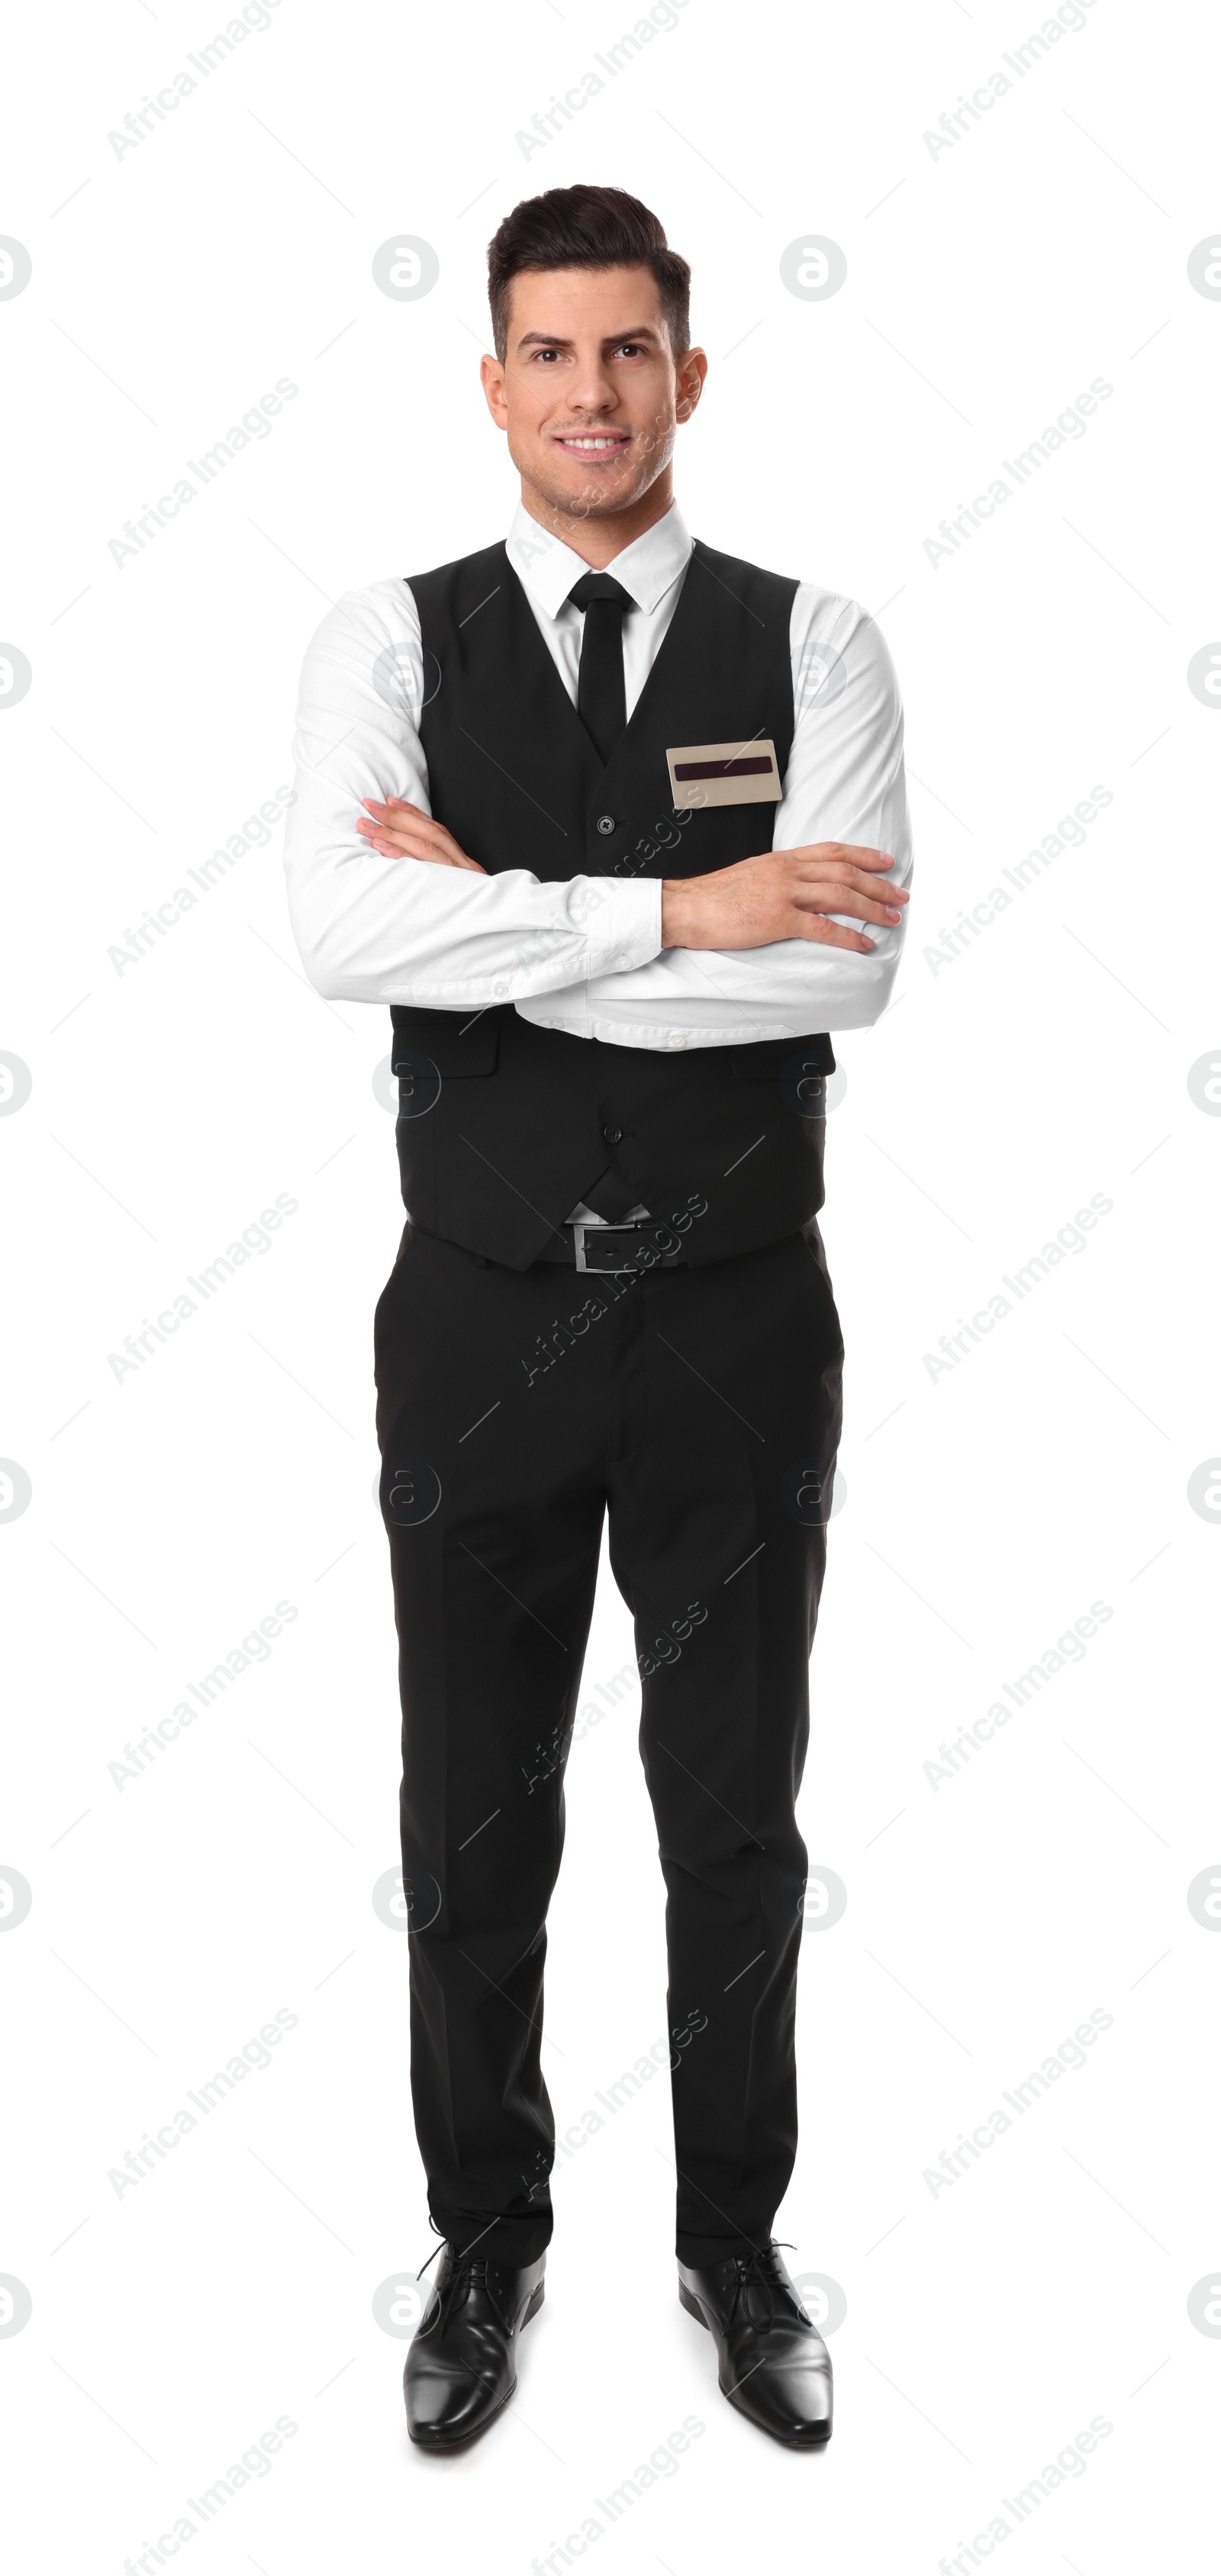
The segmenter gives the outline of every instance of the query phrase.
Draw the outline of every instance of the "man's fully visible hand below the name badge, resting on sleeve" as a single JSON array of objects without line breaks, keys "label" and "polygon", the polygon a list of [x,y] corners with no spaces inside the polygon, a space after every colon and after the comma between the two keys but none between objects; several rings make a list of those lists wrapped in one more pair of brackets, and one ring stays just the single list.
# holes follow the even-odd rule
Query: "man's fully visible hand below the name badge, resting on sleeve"
[{"label": "man's fully visible hand below the name badge, resting on sleeve", "polygon": [[858,922],[894,930],[907,904],[904,886],[878,886],[894,868],[886,850],[860,850],[819,840],[804,850],[762,850],[711,876],[662,881],[662,948],[768,948],[773,940],[822,940],[871,956],[873,940],[827,920],[850,912]]}]

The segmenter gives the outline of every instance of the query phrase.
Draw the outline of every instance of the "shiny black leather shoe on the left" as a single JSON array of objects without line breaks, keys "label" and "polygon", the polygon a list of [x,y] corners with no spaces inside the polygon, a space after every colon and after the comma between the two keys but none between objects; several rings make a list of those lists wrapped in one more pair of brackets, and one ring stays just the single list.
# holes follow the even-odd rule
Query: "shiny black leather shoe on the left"
[{"label": "shiny black leather shoe on the left", "polygon": [[518,2331],[544,2306],[544,2267],[546,2254],[518,2272],[482,2254],[464,2259],[446,2244],[402,2372],[412,2442],[456,2450],[507,2406],[518,2385]]}]

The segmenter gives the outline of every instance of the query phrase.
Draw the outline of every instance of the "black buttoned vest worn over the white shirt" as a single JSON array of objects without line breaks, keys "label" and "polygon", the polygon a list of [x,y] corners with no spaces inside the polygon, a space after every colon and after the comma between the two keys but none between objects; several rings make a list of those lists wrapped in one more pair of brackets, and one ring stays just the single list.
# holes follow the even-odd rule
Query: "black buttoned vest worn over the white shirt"
[{"label": "black buttoned vest worn over the white shirt", "polygon": [[[770,737],[783,778],[796,582],[696,541],[605,768],[505,546],[417,574],[410,590],[433,814],[482,868],[706,876],[770,848],[773,804],[677,814],[665,755]],[[677,1221],[690,1262],[796,1234],[822,1208],[827,1036],[662,1054],[536,1028],[513,1002],[397,1005],[392,1020],[402,1198],[425,1234],[525,1270],[608,1170],[649,1216]]]}]

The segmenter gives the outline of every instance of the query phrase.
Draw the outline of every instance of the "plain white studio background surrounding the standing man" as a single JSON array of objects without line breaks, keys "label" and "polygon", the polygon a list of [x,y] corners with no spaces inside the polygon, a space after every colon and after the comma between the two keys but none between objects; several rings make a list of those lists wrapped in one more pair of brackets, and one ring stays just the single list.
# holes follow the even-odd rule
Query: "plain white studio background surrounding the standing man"
[{"label": "plain white studio background surrounding the standing man", "polygon": [[[1221,1940],[1188,1886],[1221,1852],[1221,1535],[1188,1479],[1221,1440],[1221,1126],[1188,1072],[1221,1054],[1221,714],[1188,662],[1221,634],[1221,304],[1188,255],[1218,222],[1218,62],[1203,8],[1084,15],[938,157],[925,131],[1036,8],[688,0],[531,155],[518,131],[629,8],[281,0],[121,157],[108,134],[224,15],[121,0],[10,26],[0,229],[33,260],[0,304],[0,631],[33,672],[0,711],[0,1046],[33,1079],[0,1121],[0,1450],[31,1479],[0,1528],[0,1860],[33,1888],[0,1942],[0,2272],[33,2303],[0,2336],[13,2566],[118,2576],[276,2416],[299,2429],[196,2535],[201,2576],[525,2576],[685,2416],[706,2432],[600,2566],[932,2576],[997,2514],[1015,2571],[1211,2543],[1221,2344],[1188,2295],[1221,2262]],[[402,1226],[389,1018],[304,984],[278,832],[137,966],[108,958],[291,775],[325,605],[507,526],[484,245],[577,178],[641,193],[696,268],[688,523],[866,600],[907,698],[907,963],[840,1046],[827,1151],[847,1504],[801,1821],[847,1911],[806,1932],[778,2221],[791,2269],[847,2300],[822,2458],[726,2409],[677,2311],[665,2079],[556,2172],[507,2416],[453,2463],[407,2445],[404,2344],[371,2308],[433,2244],[407,1940],[371,1904],[399,1770],[371,1499],[371,1314]],[[440,258],[415,304],[374,286],[394,227]],[[824,304],[781,283],[801,227],[847,255]],[[108,538],[281,376],[299,394],[270,435],[118,569]],[[932,567],[938,523],[1095,376],[1113,397],[1087,433]],[[1113,804],[1084,848],[935,971],[925,945],[1095,783]],[[299,1206],[270,1249],[116,1381],[108,1352],[278,1193]],[[1092,1193],[1113,1208],[1087,1249],[932,1378],[925,1352]],[[299,1615],[270,1656],[116,1785],[124,1744],[278,1600]],[[932,1785],[940,1741],[1095,1600],[1113,1618],[1084,1659]],[[582,1700],[629,1656],[603,1582]],[[281,2007],[273,2063],[118,2197],[111,2166]],[[1090,2063],[932,2195],[925,2169],[1095,2009]],[[662,2027],[623,1698],[569,1762],[559,2123]],[[1077,2470],[1007,2512],[1095,2416],[1113,2429]]]}]

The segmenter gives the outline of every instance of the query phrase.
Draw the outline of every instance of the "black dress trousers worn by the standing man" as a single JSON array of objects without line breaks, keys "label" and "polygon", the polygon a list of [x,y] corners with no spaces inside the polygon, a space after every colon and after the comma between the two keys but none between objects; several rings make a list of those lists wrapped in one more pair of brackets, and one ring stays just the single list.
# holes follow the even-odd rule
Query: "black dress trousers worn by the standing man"
[{"label": "black dress trousers worn by the standing man", "polygon": [[623,1278],[407,1226],[374,1345],[433,2221],[513,2264],[551,2236],[546,1909],[608,1512],[667,1886],[677,2257],[765,2244],[796,2156],[793,1801],[840,1440],[819,1229]]}]

